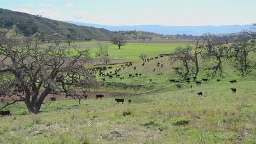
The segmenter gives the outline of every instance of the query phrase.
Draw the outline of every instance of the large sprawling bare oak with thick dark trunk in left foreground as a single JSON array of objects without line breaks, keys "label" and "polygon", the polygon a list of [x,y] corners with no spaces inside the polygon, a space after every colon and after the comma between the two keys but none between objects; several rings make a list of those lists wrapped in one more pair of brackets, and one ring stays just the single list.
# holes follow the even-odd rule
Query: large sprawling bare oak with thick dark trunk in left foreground
[{"label": "large sprawling bare oak with thick dark trunk in left foreground", "polygon": [[[0,37],[0,100],[5,105],[24,101],[31,113],[39,113],[48,94],[63,93],[79,99],[76,88],[96,87],[97,81],[84,68],[89,51],[65,47],[24,45],[24,41]],[[70,57],[72,56],[72,57]],[[17,97],[18,87],[24,89],[23,97]]]}]

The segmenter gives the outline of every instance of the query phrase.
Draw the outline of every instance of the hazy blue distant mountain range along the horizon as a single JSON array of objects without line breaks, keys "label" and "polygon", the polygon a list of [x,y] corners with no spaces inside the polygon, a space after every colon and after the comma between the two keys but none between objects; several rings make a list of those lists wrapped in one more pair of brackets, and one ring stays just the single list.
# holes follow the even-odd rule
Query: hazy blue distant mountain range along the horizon
[{"label": "hazy blue distant mountain range along the horizon", "polygon": [[243,29],[248,29],[252,25],[229,25],[229,26],[161,26],[161,25],[138,25],[138,26],[106,26],[106,25],[96,25],[84,22],[74,22],[65,21],[68,23],[73,23],[79,26],[89,26],[95,28],[104,28],[109,31],[145,31],[154,32],[158,34],[191,34],[191,35],[202,35],[204,33],[212,34],[228,34],[228,33],[238,33]]}]

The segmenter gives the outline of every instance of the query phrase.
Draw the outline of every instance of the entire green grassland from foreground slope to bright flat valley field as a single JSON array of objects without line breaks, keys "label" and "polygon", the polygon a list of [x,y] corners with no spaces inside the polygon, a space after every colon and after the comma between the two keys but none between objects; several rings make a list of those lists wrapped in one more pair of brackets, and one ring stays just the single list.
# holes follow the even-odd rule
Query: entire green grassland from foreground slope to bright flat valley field
[{"label": "entire green grassland from foreground slope to bright flat valley field", "polygon": [[[97,43],[75,45],[92,49],[93,57]],[[11,105],[7,109],[13,116],[0,118],[0,143],[256,143],[255,70],[241,78],[230,63],[224,62],[227,73],[224,78],[206,77],[202,71],[197,79],[210,81],[196,86],[195,82],[185,83],[174,73],[172,67],[180,64],[170,64],[168,56],[146,62],[143,67],[138,58],[140,53],[154,58],[185,45],[162,41],[129,43],[118,50],[109,44],[110,58],[135,63],[125,69],[121,64],[112,65],[121,68],[123,80],[106,77],[103,81],[96,74],[101,87],[95,92],[106,97],[95,99],[93,93],[80,105],[78,101],[57,97],[57,101],[45,103],[39,115],[29,114],[24,103]],[[163,67],[157,66],[158,62]],[[105,73],[110,71],[114,69]],[[142,75],[128,77],[135,73]],[[181,81],[182,88],[169,79]],[[232,93],[230,88],[236,88],[237,92]],[[197,92],[203,95],[198,96]],[[125,104],[117,104],[114,98],[124,98]],[[128,99],[131,105],[127,104]]]}]

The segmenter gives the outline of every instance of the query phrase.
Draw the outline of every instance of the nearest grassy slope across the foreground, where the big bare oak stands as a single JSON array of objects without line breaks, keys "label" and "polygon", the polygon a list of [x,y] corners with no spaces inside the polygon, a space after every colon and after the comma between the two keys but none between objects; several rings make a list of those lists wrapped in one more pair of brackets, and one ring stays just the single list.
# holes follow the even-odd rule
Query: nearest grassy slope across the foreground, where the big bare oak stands
[{"label": "nearest grassy slope across the foreground, where the big bare oak stands", "polygon": [[255,143],[255,87],[254,77],[123,95],[125,104],[118,97],[62,100],[39,115],[18,103],[9,107],[13,116],[1,117],[0,143]]}]

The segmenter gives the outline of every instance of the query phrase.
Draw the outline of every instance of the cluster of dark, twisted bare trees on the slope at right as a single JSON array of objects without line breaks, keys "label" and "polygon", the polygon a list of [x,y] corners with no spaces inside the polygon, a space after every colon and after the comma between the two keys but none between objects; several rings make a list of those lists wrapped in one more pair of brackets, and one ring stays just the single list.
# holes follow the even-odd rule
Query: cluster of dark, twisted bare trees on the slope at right
[{"label": "cluster of dark, twisted bare trees on the slope at right", "polygon": [[243,77],[256,68],[256,62],[249,57],[256,52],[255,38],[256,23],[235,37],[218,37],[207,33],[196,39],[194,47],[177,47],[171,61],[182,62],[184,79],[189,75],[197,76],[201,70],[207,71],[208,76],[223,77],[226,74],[224,62],[231,63],[237,74]]}]

